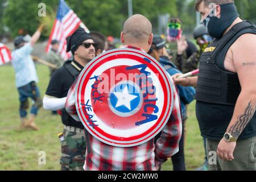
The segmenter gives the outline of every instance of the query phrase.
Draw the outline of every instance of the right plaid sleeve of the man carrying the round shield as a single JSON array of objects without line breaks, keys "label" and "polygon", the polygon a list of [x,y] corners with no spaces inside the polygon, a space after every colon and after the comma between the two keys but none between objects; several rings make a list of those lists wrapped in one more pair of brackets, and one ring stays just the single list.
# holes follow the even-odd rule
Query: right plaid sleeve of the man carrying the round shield
[{"label": "right plaid sleeve of the man carrying the round shield", "polygon": [[172,88],[174,89],[174,107],[172,109],[170,119],[162,130],[162,135],[155,145],[156,167],[159,167],[160,164],[166,162],[167,158],[170,158],[172,155],[176,154],[179,151],[182,123],[179,94],[173,81]]}]

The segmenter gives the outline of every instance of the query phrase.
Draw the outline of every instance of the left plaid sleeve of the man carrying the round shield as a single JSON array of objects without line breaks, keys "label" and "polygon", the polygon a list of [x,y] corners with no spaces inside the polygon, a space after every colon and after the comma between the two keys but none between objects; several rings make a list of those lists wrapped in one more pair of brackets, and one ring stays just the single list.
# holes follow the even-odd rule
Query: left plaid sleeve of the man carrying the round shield
[{"label": "left plaid sleeve of the man carrying the round shield", "polygon": [[73,85],[71,88],[68,90],[68,96],[67,96],[67,101],[65,103],[65,109],[69,115],[76,121],[80,122],[79,116],[77,115],[76,111],[76,82],[73,82]]}]

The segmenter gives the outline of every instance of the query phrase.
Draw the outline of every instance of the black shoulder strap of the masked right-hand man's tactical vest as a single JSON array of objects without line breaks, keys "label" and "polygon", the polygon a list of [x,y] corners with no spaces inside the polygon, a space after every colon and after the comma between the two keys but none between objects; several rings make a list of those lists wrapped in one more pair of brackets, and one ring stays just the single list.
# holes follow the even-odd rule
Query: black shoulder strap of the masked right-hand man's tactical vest
[{"label": "black shoulder strap of the masked right-hand man's tactical vest", "polygon": [[248,28],[253,28],[256,30],[256,27],[253,23],[245,20],[241,23],[237,23],[234,25],[227,33],[224,35],[220,40],[218,47],[216,48],[216,51],[213,52],[212,56],[209,59],[209,63],[214,63],[215,60],[213,57],[217,57],[217,55],[220,53],[220,51],[226,46],[226,44],[229,43],[231,39],[234,38],[237,34],[239,34],[241,31],[246,30]]}]

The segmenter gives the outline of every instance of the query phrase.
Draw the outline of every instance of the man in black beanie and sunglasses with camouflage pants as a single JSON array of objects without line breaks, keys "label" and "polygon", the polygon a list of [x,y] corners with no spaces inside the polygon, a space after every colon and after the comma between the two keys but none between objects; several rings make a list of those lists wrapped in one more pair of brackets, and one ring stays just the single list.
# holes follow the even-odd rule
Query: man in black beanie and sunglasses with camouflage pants
[{"label": "man in black beanie and sunglasses with camouflage pants", "polygon": [[78,28],[69,36],[67,52],[72,52],[73,60],[65,61],[63,67],[53,73],[44,96],[44,109],[61,110],[64,131],[59,134],[59,139],[61,142],[60,165],[63,171],[83,170],[86,150],[84,126],[81,122],[76,122],[65,111],[64,106],[69,88],[85,65],[95,57],[94,47],[96,44],[92,37],[83,28]]}]

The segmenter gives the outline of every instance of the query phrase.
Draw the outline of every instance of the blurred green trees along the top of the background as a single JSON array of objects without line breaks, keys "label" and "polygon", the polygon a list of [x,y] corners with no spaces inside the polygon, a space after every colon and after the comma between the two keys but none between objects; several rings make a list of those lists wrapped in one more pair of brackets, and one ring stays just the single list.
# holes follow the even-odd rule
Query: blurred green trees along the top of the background
[{"label": "blurred green trees along the top of the background", "polygon": [[[104,35],[119,36],[122,25],[128,17],[127,0],[65,0],[75,11],[89,30],[100,31]],[[46,5],[46,17],[38,16],[39,3]],[[183,27],[192,31],[196,24],[196,12],[193,0],[133,0],[133,13],[143,14],[151,20],[153,27],[158,27],[158,15],[170,14],[180,17]],[[242,19],[256,20],[255,0],[236,0]],[[0,34],[11,36],[32,34],[38,24],[47,23],[44,38],[51,31],[58,0],[0,0]],[[157,29],[154,29],[157,31]]]}]

